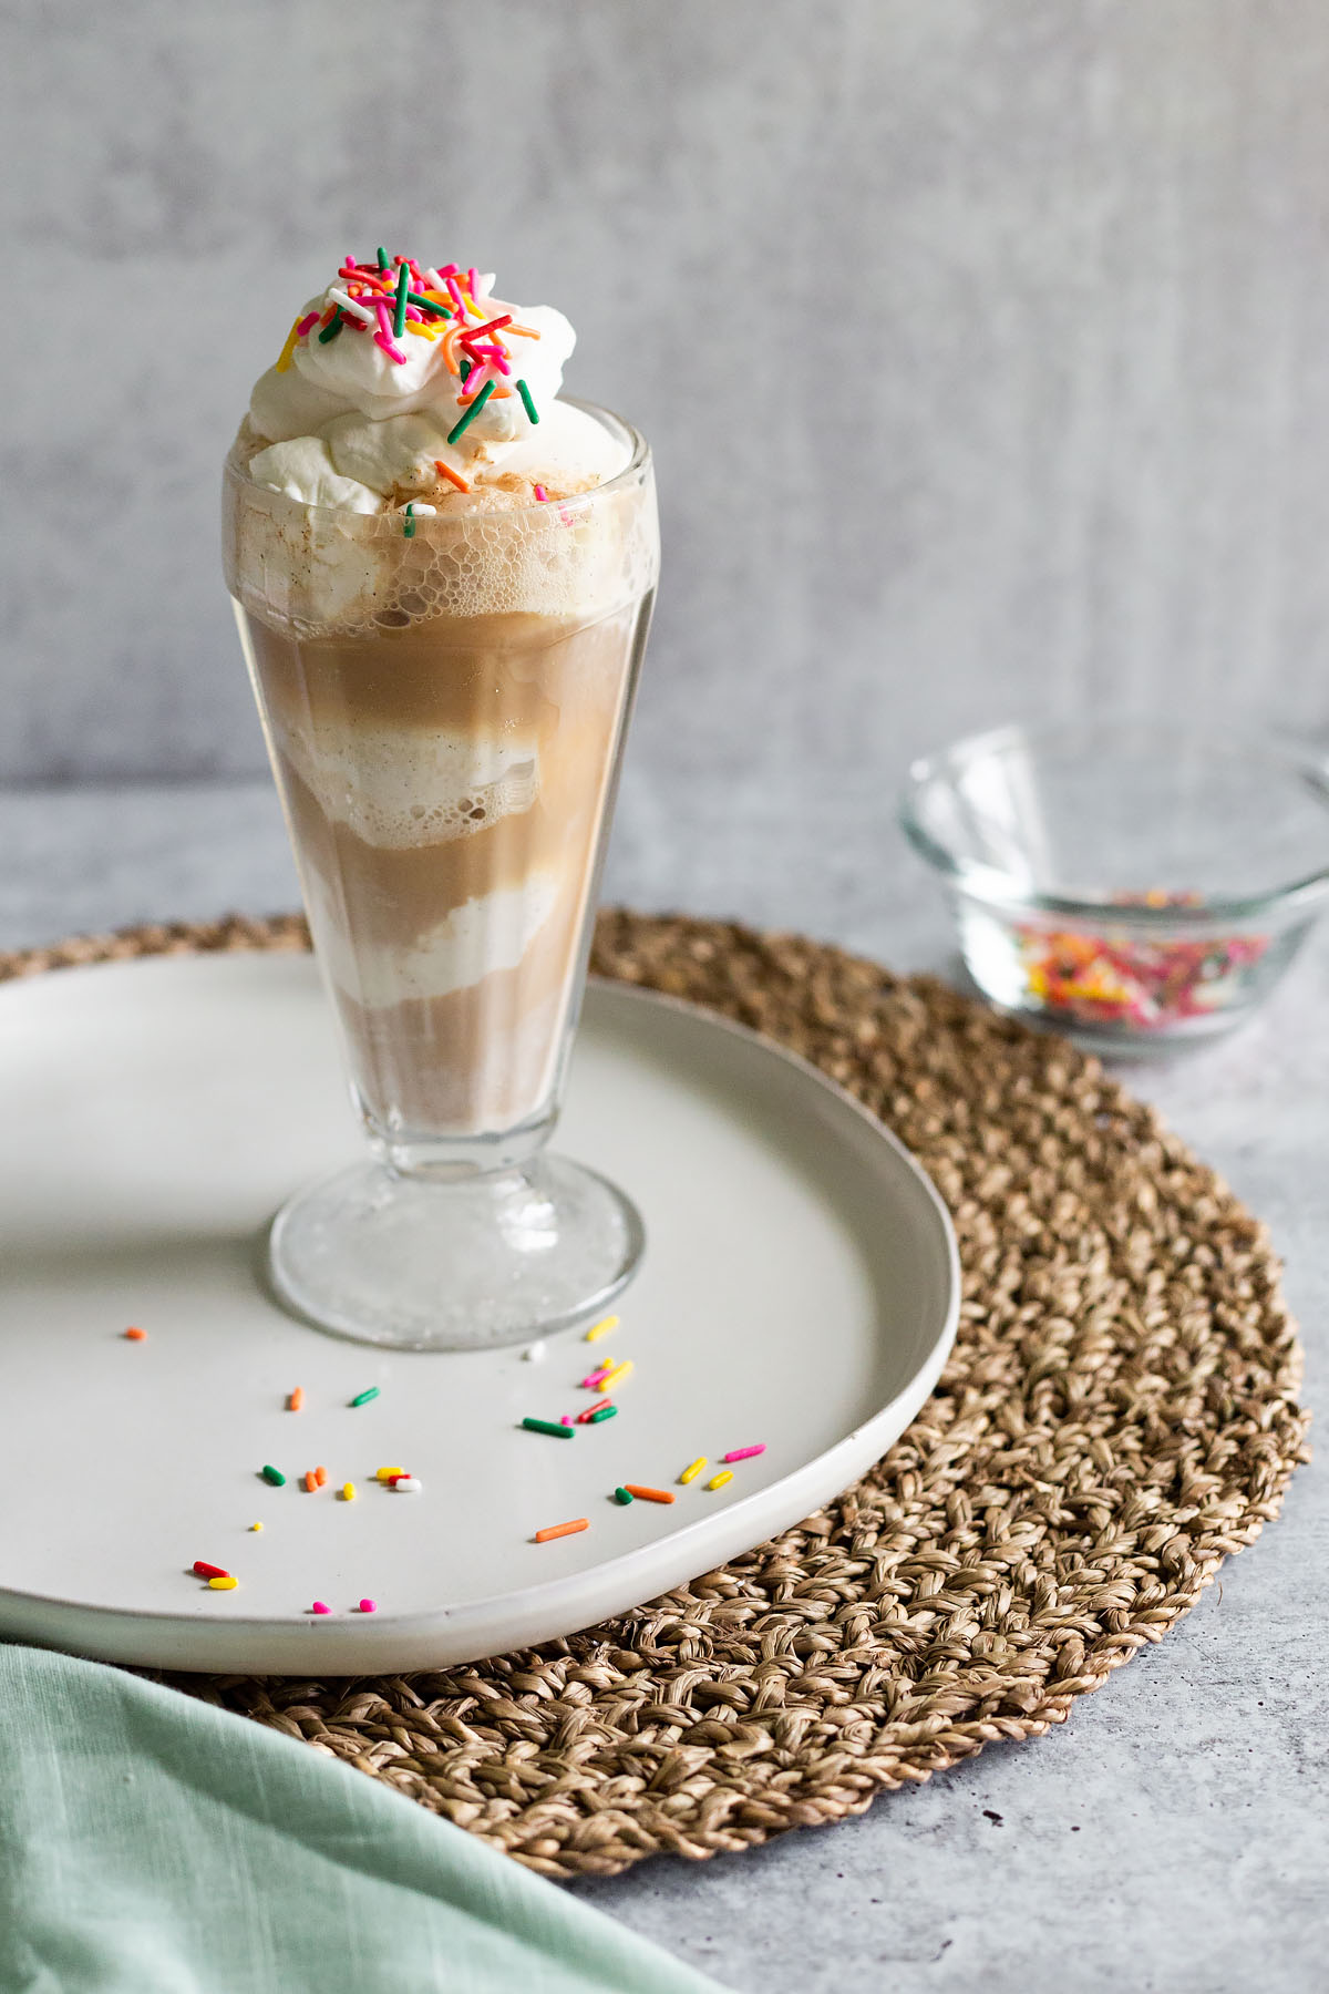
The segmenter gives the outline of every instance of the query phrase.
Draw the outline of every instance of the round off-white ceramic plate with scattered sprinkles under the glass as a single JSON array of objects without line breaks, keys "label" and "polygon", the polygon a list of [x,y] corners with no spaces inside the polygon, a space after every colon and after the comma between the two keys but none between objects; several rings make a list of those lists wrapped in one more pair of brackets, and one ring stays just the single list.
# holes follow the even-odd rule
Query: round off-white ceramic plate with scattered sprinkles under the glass
[{"label": "round off-white ceramic plate with scattered sprinkles under the glass", "polygon": [[[271,1212],[361,1143],[307,957],[6,985],[0,1119],[0,1633],[110,1661],[367,1673],[572,1633],[847,1488],[954,1336],[954,1238],[901,1145],[755,1035],[618,985],[588,993],[560,1147],[640,1202],[646,1266],[612,1338],[540,1362],[361,1348],[259,1286]],[[520,1428],[590,1406],[578,1380],[608,1354],[636,1364],[618,1418]],[[620,1507],[622,1482],[677,1499]],[[239,1587],[207,1589],[195,1557]]]}]

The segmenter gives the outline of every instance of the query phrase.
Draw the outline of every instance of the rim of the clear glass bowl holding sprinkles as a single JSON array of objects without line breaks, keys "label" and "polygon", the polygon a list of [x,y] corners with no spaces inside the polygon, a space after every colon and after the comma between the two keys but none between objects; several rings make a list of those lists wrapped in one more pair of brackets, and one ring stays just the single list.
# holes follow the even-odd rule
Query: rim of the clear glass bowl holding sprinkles
[{"label": "rim of the clear glass bowl holding sprinkles", "polygon": [[1277,885],[1263,887],[1257,893],[1233,893],[1223,899],[1207,897],[1199,905],[1170,901],[1166,905],[1152,907],[1140,901],[1122,903],[1108,897],[1084,899],[1076,895],[1042,893],[1018,883],[1000,865],[982,865],[956,855],[940,843],[923,822],[919,806],[927,792],[938,782],[950,782],[958,768],[970,766],[984,756],[1006,752],[1018,742],[1026,742],[1038,750],[1038,746],[1046,746],[1048,742],[1070,734],[1086,734],[1094,730],[1120,734],[1124,730],[1140,728],[1150,728],[1158,734],[1174,734],[1186,740],[1192,748],[1196,744],[1203,746],[1205,742],[1223,742],[1229,750],[1237,750],[1237,754],[1249,756],[1251,760],[1255,756],[1275,760],[1281,764],[1281,772],[1285,776],[1301,776],[1309,780],[1309,784],[1321,792],[1325,802],[1325,845],[1329,849],[1329,756],[1291,742],[1265,722],[1243,726],[1239,716],[1227,722],[1196,722],[1160,714],[1086,714],[1080,720],[1016,720],[1006,726],[986,728],[978,734],[964,734],[934,754],[917,756],[909,764],[905,794],[901,796],[899,806],[901,830],[915,851],[927,859],[927,863],[938,871],[950,887],[970,899],[1012,913],[1056,915],[1058,919],[1070,921],[1102,923],[1104,917],[1110,917],[1114,925],[1136,933],[1160,935],[1170,929],[1209,929],[1219,921],[1255,921],[1269,915],[1291,917],[1293,913],[1311,911],[1329,893],[1329,857],[1313,871],[1301,873],[1293,879],[1281,879]]}]

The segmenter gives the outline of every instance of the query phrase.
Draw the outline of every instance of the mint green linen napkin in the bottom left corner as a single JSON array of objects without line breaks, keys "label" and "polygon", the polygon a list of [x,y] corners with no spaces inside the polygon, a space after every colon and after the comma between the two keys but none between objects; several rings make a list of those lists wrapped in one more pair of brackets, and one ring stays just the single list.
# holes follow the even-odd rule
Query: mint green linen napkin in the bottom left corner
[{"label": "mint green linen napkin in the bottom left corner", "polygon": [[323,1753],[0,1645],[4,1994],[715,1994]]}]

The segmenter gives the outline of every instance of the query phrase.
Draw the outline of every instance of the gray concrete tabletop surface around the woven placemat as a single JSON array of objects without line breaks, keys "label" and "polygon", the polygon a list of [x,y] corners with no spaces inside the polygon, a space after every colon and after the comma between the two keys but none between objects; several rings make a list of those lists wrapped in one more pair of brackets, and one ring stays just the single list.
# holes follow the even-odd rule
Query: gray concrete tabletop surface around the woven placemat
[{"label": "gray concrete tabletop surface around the woven placemat", "polygon": [[[889,784],[773,796],[624,784],[606,891],[797,927],[954,973]],[[0,794],[0,947],[297,903],[267,784]],[[1263,1216],[1325,1368],[1329,929],[1241,1033],[1122,1069]],[[1329,1484],[1044,1739],[988,1747],[859,1821],[737,1856],[584,1882],[610,1916],[743,1994],[1301,1994],[1329,1954]]]}]

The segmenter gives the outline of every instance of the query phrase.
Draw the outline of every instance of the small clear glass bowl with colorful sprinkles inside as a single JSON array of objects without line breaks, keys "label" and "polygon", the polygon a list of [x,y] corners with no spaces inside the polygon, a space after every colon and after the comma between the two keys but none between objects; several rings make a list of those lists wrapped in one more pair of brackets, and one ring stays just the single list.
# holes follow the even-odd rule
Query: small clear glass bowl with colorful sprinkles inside
[{"label": "small clear glass bowl with colorful sprinkles inside", "polygon": [[984,997],[1098,1051],[1249,1017],[1329,895],[1329,762],[1257,728],[976,734],[913,764],[901,822]]}]

